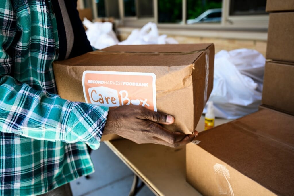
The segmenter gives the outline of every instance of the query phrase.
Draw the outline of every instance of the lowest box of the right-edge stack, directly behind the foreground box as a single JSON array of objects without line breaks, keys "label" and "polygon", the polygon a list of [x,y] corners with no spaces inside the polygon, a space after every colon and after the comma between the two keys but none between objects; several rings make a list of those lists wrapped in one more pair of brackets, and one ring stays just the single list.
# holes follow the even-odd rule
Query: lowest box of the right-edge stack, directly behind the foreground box
[{"label": "lowest box of the right-edge stack, directly behind the foreground box", "polygon": [[294,115],[294,65],[266,62],[261,102]]}]

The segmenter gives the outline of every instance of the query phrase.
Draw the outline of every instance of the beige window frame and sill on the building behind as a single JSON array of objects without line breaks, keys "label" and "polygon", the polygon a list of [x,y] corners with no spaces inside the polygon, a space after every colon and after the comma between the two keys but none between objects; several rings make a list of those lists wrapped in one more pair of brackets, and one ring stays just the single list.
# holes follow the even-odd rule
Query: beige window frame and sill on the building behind
[{"label": "beige window frame and sill on the building behind", "polygon": [[[135,6],[138,7],[137,0]],[[95,4],[95,0],[93,0]],[[222,17],[220,23],[199,23],[186,24],[186,6],[187,0],[182,0],[182,22],[181,23],[158,23],[158,0],[153,0],[153,17],[138,18],[124,16],[123,0],[118,0],[120,19],[117,19],[119,27],[142,27],[147,22],[155,22],[159,28],[171,29],[202,29],[202,30],[243,30],[243,31],[258,31],[267,32],[268,29],[268,15],[248,15],[248,16],[230,16],[229,5],[230,0],[222,1]],[[95,7],[95,6],[93,6]],[[97,18],[97,10],[94,11],[94,16]],[[138,11],[138,10],[137,10]],[[138,12],[137,12],[138,14]]]}]

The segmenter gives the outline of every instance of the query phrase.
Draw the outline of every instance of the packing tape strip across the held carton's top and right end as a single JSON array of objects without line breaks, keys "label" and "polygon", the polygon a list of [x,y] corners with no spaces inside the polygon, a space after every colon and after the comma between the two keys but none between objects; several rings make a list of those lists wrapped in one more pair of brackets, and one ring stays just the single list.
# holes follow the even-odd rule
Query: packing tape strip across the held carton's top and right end
[{"label": "packing tape strip across the held carton's top and right end", "polygon": [[[116,54],[116,55],[124,55],[124,54],[128,54],[128,55],[137,55],[137,54],[141,54],[141,55],[188,55],[188,54],[193,54],[193,53],[197,53],[197,52],[204,52],[205,53],[205,88],[204,88],[204,97],[203,97],[203,103],[204,106],[206,105],[207,102],[207,90],[208,90],[208,79],[209,79],[209,50],[208,49],[202,49],[202,50],[193,50],[193,51],[189,51],[189,52],[131,52],[131,51],[107,51],[107,50],[96,50],[93,52],[101,52],[104,54],[110,53],[110,54]],[[195,68],[193,68],[195,69]]]}]

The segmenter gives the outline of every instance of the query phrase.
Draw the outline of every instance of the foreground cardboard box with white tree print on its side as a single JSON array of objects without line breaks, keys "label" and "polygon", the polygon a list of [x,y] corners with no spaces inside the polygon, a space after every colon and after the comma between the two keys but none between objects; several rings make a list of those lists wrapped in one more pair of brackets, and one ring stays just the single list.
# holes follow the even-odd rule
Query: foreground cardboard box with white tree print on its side
[{"label": "foreground cardboard box with white tree print on its side", "polygon": [[294,195],[294,117],[261,109],[186,146],[187,181],[204,196]]}]

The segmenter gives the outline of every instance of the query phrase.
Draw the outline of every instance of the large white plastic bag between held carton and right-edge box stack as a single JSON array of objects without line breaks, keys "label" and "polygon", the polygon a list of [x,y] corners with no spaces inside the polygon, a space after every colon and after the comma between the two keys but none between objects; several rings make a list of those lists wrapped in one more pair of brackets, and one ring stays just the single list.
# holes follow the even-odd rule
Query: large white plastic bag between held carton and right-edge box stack
[{"label": "large white plastic bag between held carton and right-edge box stack", "polygon": [[213,101],[215,116],[235,119],[257,111],[262,94],[263,55],[250,49],[221,50],[214,62],[209,101]]}]

